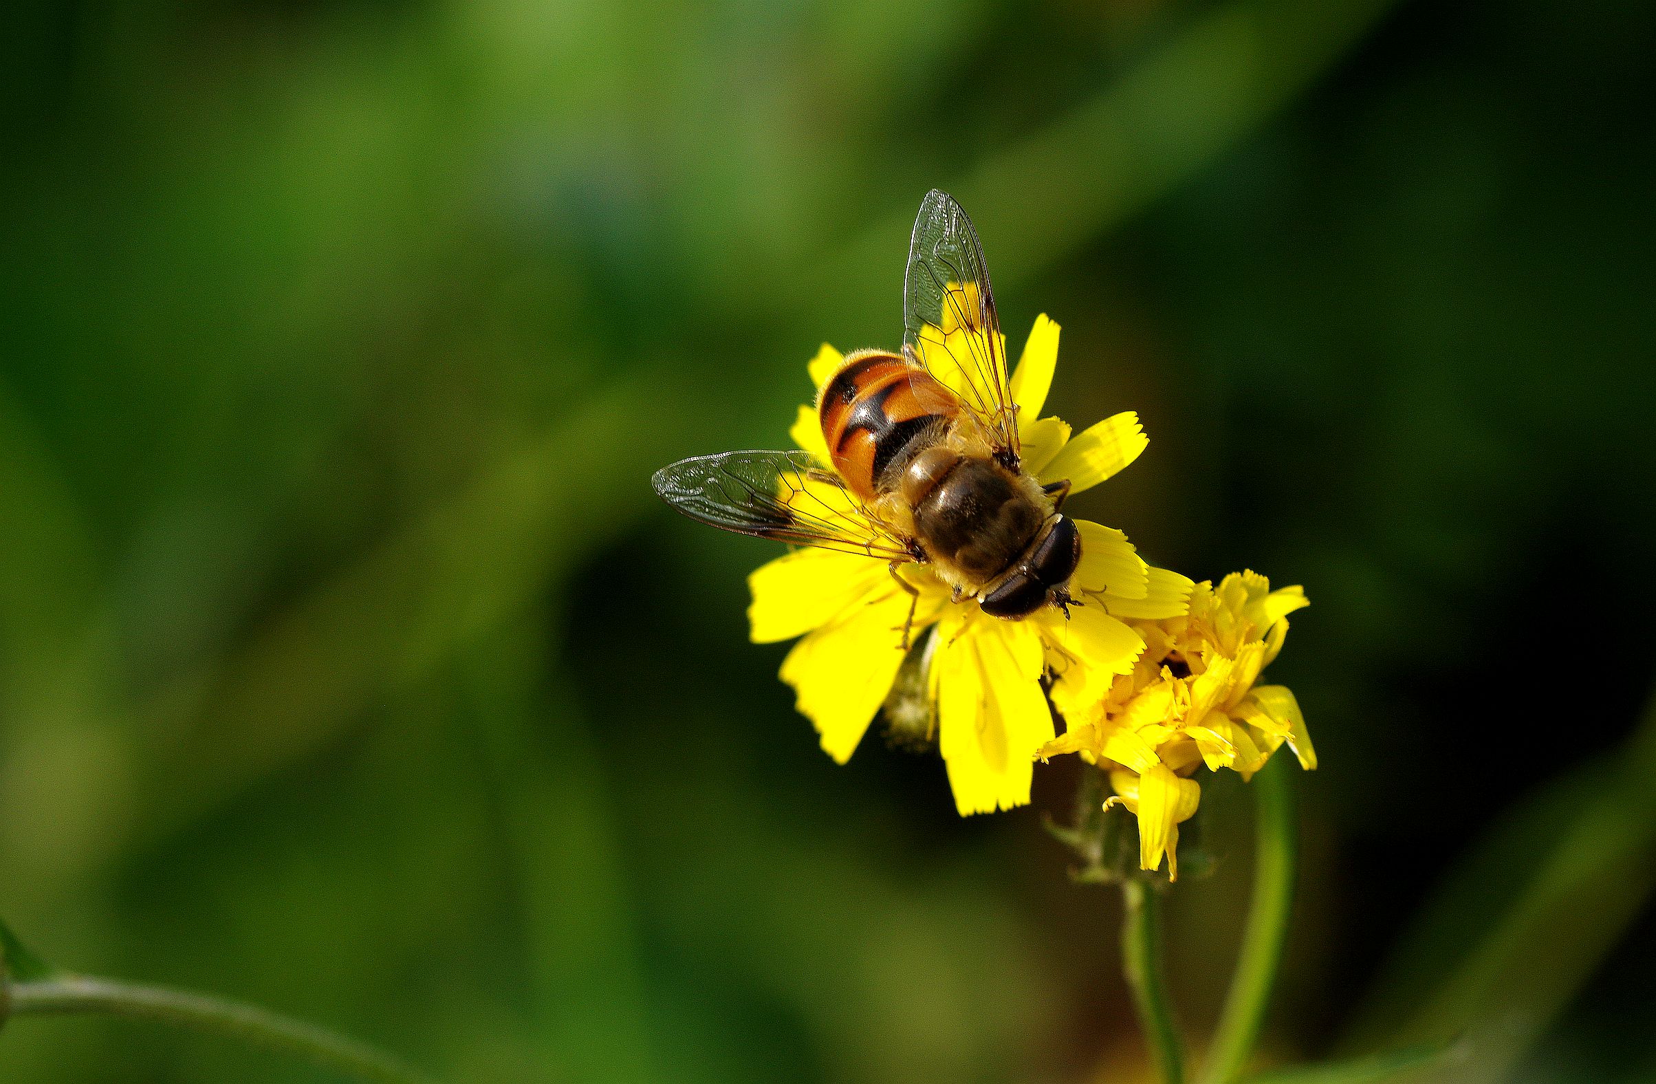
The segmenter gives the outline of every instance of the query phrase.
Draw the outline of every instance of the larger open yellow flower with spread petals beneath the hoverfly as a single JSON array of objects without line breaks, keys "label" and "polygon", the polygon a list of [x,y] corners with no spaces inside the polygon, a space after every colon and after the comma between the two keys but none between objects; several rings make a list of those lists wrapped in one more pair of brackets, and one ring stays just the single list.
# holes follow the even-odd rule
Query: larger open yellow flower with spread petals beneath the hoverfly
[{"label": "larger open yellow flower with spread petals beneath the hoverfly", "polygon": [[[949,327],[946,333],[972,331]],[[957,353],[965,356],[964,350]],[[821,388],[841,360],[825,345],[810,363],[813,383]],[[1023,469],[1042,482],[1068,477],[1073,494],[1126,467],[1148,441],[1133,413],[1073,439],[1063,421],[1040,418],[1057,360],[1058,325],[1040,317],[1012,375],[1012,393]],[[941,366],[931,368],[957,386]],[[811,406],[800,408],[792,436],[831,469]],[[1139,635],[1113,617],[1118,608],[1158,618],[1186,612],[1189,580],[1146,565],[1119,530],[1086,520],[1076,520],[1076,527],[1083,557],[1070,590],[1081,605],[1068,620],[1052,607],[1023,620],[999,620],[974,600],[952,602],[951,588],[927,565],[904,569],[919,590],[914,641],[929,655],[926,693],[936,708],[939,748],[962,815],[1028,802],[1035,753],[1053,738],[1045,675],[1066,688],[1105,688],[1113,675],[1131,673],[1144,648]],[[803,636],[782,663],[782,680],[793,686],[797,706],[816,726],[823,749],[845,762],[903,665],[909,595],[884,564],[816,549],[778,557],[757,569],[749,585],[755,643]],[[921,630],[931,627],[936,632],[922,640]]]}]

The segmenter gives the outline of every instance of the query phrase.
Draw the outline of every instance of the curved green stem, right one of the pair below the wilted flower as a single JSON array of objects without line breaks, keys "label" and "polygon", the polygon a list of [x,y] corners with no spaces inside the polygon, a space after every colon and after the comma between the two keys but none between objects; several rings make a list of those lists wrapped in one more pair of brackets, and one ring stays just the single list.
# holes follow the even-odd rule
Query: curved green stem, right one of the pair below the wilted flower
[{"label": "curved green stem, right one of the pair below the wilted flower", "polygon": [[1270,991],[1277,983],[1282,948],[1288,936],[1293,907],[1297,859],[1293,782],[1288,757],[1275,756],[1254,777],[1255,814],[1254,902],[1242,932],[1237,970],[1219,1014],[1219,1028],[1207,1051],[1204,1084],[1229,1084],[1247,1069],[1259,1039]]}]

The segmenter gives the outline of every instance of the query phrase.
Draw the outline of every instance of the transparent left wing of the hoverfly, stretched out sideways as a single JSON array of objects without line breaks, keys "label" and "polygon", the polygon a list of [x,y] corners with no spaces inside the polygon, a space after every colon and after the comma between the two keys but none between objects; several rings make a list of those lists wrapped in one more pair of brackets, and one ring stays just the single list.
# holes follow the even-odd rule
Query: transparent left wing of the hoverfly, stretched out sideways
[{"label": "transparent left wing of the hoverfly, stretched out sideways", "polygon": [[681,459],[651,479],[662,501],[694,520],[881,560],[916,550],[803,451],[737,451]]}]

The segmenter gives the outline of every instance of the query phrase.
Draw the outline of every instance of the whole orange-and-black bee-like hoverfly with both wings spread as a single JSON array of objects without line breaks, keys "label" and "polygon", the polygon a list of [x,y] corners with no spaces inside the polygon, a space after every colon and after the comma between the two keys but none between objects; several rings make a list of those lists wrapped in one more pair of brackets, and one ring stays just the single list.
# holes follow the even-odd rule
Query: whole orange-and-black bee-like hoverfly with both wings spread
[{"label": "whole orange-and-black bee-like hoverfly with both wings spread", "polygon": [[[830,462],[803,451],[734,451],[656,472],[691,519],[793,545],[866,554],[917,602],[903,570],[926,565],[984,613],[1068,615],[1081,535],[1058,509],[1068,481],[1022,469],[984,249],[946,192],[921,202],[903,288],[903,351],[858,350],[821,386]],[[907,648],[909,622],[903,646]]]}]

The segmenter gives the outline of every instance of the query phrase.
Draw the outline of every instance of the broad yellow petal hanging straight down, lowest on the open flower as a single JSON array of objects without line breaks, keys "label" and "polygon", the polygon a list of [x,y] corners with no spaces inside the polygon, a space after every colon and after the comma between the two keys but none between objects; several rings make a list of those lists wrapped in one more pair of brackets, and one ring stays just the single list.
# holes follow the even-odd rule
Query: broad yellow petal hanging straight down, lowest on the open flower
[{"label": "broad yellow petal hanging straight down, lowest on the open flower", "polygon": [[967,815],[1023,806],[1035,756],[1053,739],[1035,630],[980,617],[939,645],[934,671],[939,666],[937,738],[956,809]]}]

